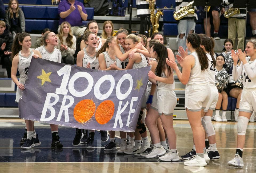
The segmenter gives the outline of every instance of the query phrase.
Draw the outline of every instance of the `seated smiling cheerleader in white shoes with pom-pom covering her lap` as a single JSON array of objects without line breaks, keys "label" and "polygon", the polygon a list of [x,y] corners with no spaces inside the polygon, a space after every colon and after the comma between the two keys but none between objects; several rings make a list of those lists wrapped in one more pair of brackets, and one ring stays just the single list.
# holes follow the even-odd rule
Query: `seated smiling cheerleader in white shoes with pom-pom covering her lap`
[{"label": "seated smiling cheerleader in white shoes with pom-pom covering her lap", "polygon": [[[224,67],[224,63],[225,63],[225,58],[222,56],[218,56],[216,58],[216,70],[221,71],[221,70],[226,70]],[[226,118],[226,110],[227,110],[227,104],[228,104],[228,100],[227,100],[227,93],[222,90],[219,92],[219,99],[215,108],[215,116],[214,116],[214,120],[217,122],[227,122],[227,118]],[[219,115],[219,110],[221,109],[221,105],[222,105],[222,117]]]}]

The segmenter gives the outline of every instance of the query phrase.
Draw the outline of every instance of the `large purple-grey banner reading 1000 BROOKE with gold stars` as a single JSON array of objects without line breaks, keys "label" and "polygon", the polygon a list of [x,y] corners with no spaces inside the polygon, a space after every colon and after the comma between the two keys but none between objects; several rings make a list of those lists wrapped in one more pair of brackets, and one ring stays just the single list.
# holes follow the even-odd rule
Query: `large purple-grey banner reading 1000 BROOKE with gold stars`
[{"label": "large purple-grey banner reading 1000 BROOKE with gold stars", "polygon": [[32,58],[19,116],[81,129],[134,132],[149,70],[101,71]]}]

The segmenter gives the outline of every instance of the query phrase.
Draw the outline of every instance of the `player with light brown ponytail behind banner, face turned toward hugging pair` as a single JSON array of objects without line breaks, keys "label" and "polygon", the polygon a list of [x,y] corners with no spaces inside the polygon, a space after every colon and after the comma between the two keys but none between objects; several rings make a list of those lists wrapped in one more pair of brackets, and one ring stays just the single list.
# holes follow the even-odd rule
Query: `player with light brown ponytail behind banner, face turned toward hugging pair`
[{"label": "player with light brown ponytail behind banner, face turned toward hugging pair", "polygon": [[[96,58],[99,60],[99,67],[101,70],[111,70],[110,65],[116,61],[114,46],[116,45],[117,37],[107,37],[106,42],[97,52]],[[107,50],[107,51],[106,51]]]}]

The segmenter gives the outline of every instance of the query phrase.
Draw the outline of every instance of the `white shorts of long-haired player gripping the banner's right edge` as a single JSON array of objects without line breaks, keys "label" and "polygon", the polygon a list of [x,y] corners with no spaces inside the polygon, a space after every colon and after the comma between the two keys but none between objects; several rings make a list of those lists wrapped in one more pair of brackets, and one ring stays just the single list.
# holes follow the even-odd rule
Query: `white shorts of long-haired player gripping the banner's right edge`
[{"label": "white shorts of long-haired player gripping the banner's right edge", "polygon": [[157,91],[153,96],[151,108],[158,111],[159,115],[173,115],[177,105],[177,97],[173,90]]}]

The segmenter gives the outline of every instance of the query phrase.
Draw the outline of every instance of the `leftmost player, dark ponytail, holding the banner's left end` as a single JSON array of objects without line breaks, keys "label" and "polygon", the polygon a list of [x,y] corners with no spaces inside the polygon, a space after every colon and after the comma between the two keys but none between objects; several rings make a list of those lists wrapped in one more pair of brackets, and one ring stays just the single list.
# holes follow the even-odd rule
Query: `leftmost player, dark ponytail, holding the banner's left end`
[{"label": "leftmost player, dark ponytail, holding the banner's left end", "polygon": [[[11,47],[11,59],[12,59],[12,66],[11,66],[11,79],[17,85],[17,92],[16,92],[16,100],[15,102],[19,102],[21,91],[25,89],[24,84],[27,78],[27,72],[29,70],[30,62],[32,58],[41,58],[41,54],[38,50],[30,49],[31,47],[31,38],[30,35],[26,32],[17,33],[13,46]],[[19,70],[19,80],[16,77],[17,69]],[[25,120],[27,134],[25,131],[25,136],[20,141],[22,145],[22,149],[30,149],[34,146],[38,146],[41,142],[38,140],[38,137],[35,133],[34,129],[34,121]]]}]

